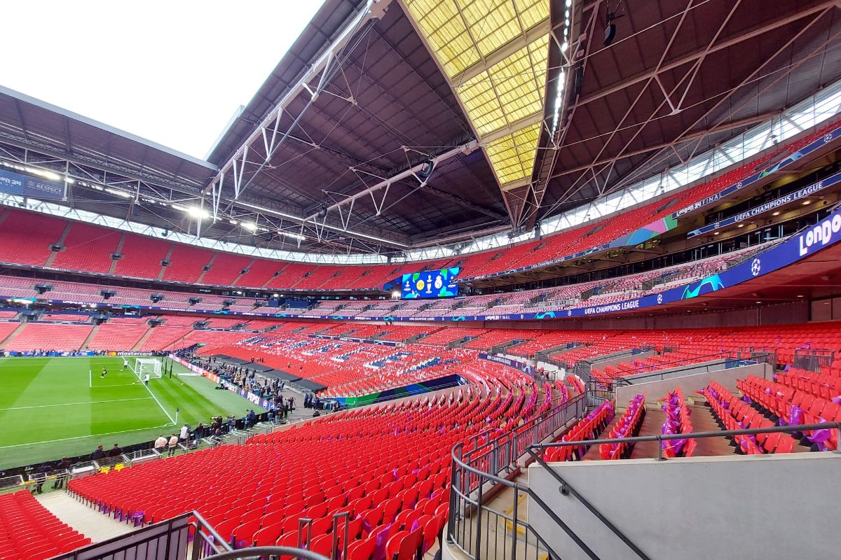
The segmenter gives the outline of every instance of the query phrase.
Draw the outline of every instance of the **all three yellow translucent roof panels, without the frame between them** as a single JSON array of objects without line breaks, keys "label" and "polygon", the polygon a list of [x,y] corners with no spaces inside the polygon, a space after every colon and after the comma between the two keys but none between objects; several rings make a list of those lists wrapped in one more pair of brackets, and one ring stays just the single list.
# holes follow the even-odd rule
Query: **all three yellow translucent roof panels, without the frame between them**
[{"label": "all three yellow translucent roof panels, without the frame between them", "polygon": [[[548,35],[492,66],[487,59],[545,21],[549,0],[403,0],[403,5],[451,81],[474,65],[484,66],[454,87],[480,138],[542,113]],[[484,146],[500,186],[531,178],[541,126],[520,128]]]}]

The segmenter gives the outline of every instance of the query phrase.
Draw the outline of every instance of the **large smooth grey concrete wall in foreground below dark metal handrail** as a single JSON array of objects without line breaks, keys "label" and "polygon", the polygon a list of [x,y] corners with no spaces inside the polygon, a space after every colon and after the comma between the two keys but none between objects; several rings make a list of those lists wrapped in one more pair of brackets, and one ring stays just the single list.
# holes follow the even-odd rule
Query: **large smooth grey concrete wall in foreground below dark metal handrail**
[{"label": "large smooth grey concrete wall in foreground below dark metal handrail", "polygon": [[[841,455],[553,463],[653,560],[837,558]],[[537,463],[529,486],[604,560],[636,558]],[[585,555],[529,500],[528,520],[564,560]]]}]

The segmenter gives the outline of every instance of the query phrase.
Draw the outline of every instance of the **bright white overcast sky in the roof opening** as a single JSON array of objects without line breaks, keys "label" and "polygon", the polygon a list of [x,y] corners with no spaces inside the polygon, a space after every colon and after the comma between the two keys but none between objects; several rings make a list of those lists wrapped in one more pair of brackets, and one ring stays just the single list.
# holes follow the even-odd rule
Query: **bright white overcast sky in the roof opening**
[{"label": "bright white overcast sky in the roof opening", "polygon": [[204,159],[322,3],[5,3],[0,84]]}]

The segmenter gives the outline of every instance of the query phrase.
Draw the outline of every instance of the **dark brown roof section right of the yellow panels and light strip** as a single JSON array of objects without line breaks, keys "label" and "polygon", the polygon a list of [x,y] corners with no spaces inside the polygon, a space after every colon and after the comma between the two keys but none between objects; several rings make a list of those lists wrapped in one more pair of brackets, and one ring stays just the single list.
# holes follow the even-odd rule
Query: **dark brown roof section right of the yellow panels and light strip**
[{"label": "dark brown roof section right of the yellow panels and light strip", "polygon": [[540,216],[685,163],[841,77],[834,2],[624,2],[604,47],[607,4],[576,12],[580,87]]}]

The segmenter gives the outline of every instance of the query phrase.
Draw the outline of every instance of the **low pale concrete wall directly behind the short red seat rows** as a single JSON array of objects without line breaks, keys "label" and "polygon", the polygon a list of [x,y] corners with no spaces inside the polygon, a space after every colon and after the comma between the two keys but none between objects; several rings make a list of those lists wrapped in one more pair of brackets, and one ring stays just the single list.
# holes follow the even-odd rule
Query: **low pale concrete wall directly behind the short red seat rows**
[{"label": "low pale concrete wall directly behind the short red seat rows", "polygon": [[[723,368],[721,362],[706,362],[699,364],[697,369],[677,369],[663,371],[663,378],[661,376],[651,377],[650,381],[635,383],[634,385],[627,385],[624,387],[616,387],[616,404],[622,406],[622,403],[627,403],[632,399],[633,395],[637,393],[646,393],[648,401],[663,397],[675,387],[680,387],[684,395],[689,397],[695,393],[696,390],[701,390],[706,385],[710,385],[712,381],[718,381],[731,392],[736,390],[736,379],[744,379],[748,375],[756,375],[763,379],[771,379],[774,374],[774,369],[769,364],[751,364],[745,365],[741,368]],[[697,373],[696,373],[697,372]],[[628,379],[641,377],[640,375],[632,375]]]}]

